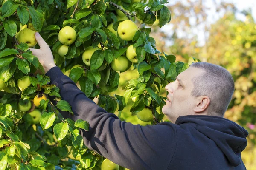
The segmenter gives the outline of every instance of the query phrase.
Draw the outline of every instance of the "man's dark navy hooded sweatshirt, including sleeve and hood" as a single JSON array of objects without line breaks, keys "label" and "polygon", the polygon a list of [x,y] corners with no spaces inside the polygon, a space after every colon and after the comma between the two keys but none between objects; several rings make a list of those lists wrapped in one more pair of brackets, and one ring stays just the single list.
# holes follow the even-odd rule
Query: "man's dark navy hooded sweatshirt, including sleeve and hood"
[{"label": "man's dark navy hooded sweatshirt, including sleeve and hood", "polygon": [[[60,88],[72,111],[64,118],[86,120],[81,130],[84,144],[116,164],[130,170],[245,170],[241,151],[247,145],[247,130],[217,116],[180,116],[175,124],[133,125],[120,121],[77,88],[58,67],[47,74]],[[54,97],[50,97],[56,105]]]}]

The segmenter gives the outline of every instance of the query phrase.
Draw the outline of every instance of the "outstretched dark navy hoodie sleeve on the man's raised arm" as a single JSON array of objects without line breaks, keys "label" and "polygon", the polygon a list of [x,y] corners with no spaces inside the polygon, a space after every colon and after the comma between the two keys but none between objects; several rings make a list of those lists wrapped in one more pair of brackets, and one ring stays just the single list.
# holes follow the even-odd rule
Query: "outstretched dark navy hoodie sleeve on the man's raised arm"
[{"label": "outstretched dark navy hoodie sleeve on the man's raised arm", "polygon": [[[105,158],[131,170],[151,170],[168,168],[177,144],[176,125],[163,122],[158,125],[133,125],[120,121],[113,113],[108,113],[77,88],[58,67],[47,74],[51,84],[60,88],[60,95],[74,112],[60,111],[66,119],[86,120],[89,131],[81,130],[84,144]],[[51,97],[53,104],[56,101]]]}]

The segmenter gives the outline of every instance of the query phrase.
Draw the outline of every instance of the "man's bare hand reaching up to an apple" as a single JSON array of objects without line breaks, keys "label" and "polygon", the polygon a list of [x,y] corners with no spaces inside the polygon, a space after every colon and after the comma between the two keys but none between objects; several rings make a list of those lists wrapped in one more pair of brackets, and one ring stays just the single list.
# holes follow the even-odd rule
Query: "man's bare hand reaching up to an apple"
[{"label": "man's bare hand reaching up to an apple", "polygon": [[45,73],[47,73],[49,69],[56,66],[53,59],[52,51],[49,45],[44,41],[44,39],[38,32],[35,33],[35,39],[38,42],[40,49],[29,48],[29,50],[32,51],[32,54],[34,56],[38,57],[39,62],[44,67]]}]

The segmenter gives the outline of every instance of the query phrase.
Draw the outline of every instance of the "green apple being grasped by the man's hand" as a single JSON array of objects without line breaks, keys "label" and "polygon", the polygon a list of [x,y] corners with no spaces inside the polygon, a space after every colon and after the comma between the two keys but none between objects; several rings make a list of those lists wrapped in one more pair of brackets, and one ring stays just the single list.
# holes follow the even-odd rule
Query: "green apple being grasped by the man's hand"
[{"label": "green apple being grasped by the man's hand", "polygon": [[19,43],[27,43],[29,48],[34,47],[37,44],[37,41],[35,40],[35,31],[29,28],[21,30],[17,36],[17,40]]}]

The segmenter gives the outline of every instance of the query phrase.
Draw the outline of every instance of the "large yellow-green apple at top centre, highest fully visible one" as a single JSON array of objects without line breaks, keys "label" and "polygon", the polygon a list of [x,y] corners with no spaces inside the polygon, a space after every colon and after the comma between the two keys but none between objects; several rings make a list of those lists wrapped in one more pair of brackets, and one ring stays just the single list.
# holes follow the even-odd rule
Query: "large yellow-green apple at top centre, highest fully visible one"
[{"label": "large yellow-green apple at top centre, highest fully visible one", "polygon": [[117,32],[122,40],[131,41],[138,31],[138,28],[131,20],[125,20],[119,24]]}]

